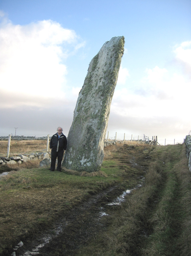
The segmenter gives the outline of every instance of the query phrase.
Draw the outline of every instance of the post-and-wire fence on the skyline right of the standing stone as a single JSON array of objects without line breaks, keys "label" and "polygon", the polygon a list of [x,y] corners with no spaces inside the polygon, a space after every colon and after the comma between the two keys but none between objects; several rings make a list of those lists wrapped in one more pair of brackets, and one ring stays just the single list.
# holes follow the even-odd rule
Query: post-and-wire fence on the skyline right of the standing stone
[{"label": "post-and-wire fence on the skyline right of the standing stone", "polygon": [[[118,132],[107,132],[106,134],[106,140],[130,140],[130,141],[144,141],[145,135],[129,135],[125,133],[118,133]],[[153,140],[155,136],[148,136],[149,140]],[[186,137],[186,136],[185,136]],[[165,145],[175,145],[175,144],[182,144],[184,142],[183,139],[173,139],[173,140],[167,140],[167,139],[157,139],[158,144],[161,146]]]}]

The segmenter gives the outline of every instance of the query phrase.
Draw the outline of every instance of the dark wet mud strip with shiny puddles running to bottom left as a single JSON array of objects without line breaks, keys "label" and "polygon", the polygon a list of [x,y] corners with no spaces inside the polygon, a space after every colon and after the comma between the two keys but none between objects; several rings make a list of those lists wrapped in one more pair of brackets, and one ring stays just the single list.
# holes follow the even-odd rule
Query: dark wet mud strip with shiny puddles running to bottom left
[{"label": "dark wet mud strip with shiny puddles running to bottom left", "polygon": [[[125,153],[125,152],[124,152]],[[136,163],[136,158],[129,154],[129,159],[120,162],[130,163],[143,171],[142,164]],[[125,162],[125,163],[126,163]],[[144,177],[137,177],[137,185],[129,189],[128,185],[118,185],[108,188],[89,200],[71,209],[67,214],[53,223],[51,229],[41,233],[38,238],[25,241],[18,248],[16,256],[76,256],[80,247],[85,246],[99,232],[104,232],[111,224],[112,213],[120,210],[120,205],[126,196],[134,189],[141,188]]]}]

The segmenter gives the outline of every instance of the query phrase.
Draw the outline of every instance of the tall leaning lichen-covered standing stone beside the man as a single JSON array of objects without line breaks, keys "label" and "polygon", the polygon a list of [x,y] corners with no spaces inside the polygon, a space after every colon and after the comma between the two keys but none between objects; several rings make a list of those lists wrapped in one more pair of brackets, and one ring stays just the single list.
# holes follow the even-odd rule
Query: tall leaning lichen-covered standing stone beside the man
[{"label": "tall leaning lichen-covered standing stone beside the man", "polygon": [[89,64],[67,137],[62,163],[67,169],[95,172],[101,168],[111,100],[123,53],[124,37],[113,37]]}]

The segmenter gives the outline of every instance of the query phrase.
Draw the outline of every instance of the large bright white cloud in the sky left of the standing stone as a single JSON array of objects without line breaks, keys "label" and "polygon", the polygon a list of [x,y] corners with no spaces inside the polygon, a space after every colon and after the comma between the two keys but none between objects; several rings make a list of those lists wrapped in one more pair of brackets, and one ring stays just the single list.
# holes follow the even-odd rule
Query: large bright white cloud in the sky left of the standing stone
[{"label": "large bright white cloud in the sky left of the standing stone", "polygon": [[63,60],[83,45],[74,31],[52,20],[21,26],[3,18],[0,89],[14,95],[64,98],[67,66]]}]

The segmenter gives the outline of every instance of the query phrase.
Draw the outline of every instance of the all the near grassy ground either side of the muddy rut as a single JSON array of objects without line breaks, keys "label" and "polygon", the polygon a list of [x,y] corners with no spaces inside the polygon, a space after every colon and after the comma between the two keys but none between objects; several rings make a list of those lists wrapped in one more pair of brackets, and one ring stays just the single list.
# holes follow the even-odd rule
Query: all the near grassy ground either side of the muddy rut
[{"label": "all the near grassy ground either side of the muddy rut", "polygon": [[[185,145],[129,142],[107,147],[104,154],[96,173],[18,166],[1,178],[1,255],[10,255],[20,241],[27,250],[41,233],[73,216],[67,232],[44,247],[40,256],[190,256],[191,174]],[[132,190],[122,204],[107,206],[143,176],[143,186]],[[75,210],[109,188],[113,192],[88,211]],[[97,206],[108,214],[99,224],[90,221]]]}]

